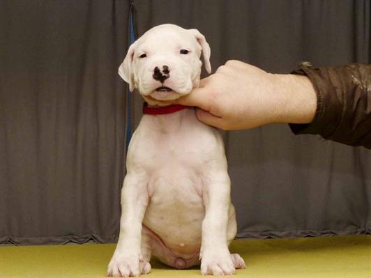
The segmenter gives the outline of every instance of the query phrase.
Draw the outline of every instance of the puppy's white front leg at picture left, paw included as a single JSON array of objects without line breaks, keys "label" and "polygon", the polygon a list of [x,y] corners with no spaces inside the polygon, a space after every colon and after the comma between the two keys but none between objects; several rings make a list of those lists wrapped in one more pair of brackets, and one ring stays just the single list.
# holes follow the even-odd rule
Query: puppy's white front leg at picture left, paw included
[{"label": "puppy's white front leg at picture left, paw included", "polygon": [[148,201],[145,176],[133,173],[126,175],[121,190],[119,242],[108,265],[107,275],[130,277],[138,276],[143,271],[139,269],[139,265],[146,265],[141,254],[141,234]]}]

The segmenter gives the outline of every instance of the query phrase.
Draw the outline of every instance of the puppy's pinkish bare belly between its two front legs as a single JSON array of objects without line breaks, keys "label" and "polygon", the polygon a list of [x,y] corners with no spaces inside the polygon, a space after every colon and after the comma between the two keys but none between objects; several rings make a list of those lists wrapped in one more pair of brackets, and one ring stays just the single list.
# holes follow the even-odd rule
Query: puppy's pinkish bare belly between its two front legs
[{"label": "puppy's pinkish bare belly between its two front legs", "polygon": [[195,177],[171,175],[153,180],[143,224],[176,256],[195,254],[201,246],[204,204]]}]

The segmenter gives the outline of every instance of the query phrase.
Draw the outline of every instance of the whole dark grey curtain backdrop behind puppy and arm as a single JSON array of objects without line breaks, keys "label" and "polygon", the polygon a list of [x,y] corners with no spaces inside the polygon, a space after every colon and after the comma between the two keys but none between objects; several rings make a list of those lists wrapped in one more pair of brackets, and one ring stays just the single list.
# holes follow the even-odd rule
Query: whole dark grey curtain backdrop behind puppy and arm
[{"label": "whole dark grey curtain backdrop behind puppy and arm", "polygon": [[[117,239],[128,12],[126,0],[0,0],[0,243]],[[162,23],[204,33],[214,71],[371,63],[370,0],[135,0],[138,36]],[[141,106],[133,95],[135,126]],[[285,124],[223,136],[239,237],[371,233],[370,150]]]}]

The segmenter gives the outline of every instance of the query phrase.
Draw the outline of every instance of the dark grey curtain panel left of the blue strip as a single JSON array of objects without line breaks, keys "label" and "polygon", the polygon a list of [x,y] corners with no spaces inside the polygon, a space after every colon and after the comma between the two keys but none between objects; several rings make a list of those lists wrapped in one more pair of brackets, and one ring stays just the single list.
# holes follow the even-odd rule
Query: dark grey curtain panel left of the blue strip
[{"label": "dark grey curtain panel left of the blue strip", "polygon": [[0,242],[112,242],[127,1],[0,0]]}]

